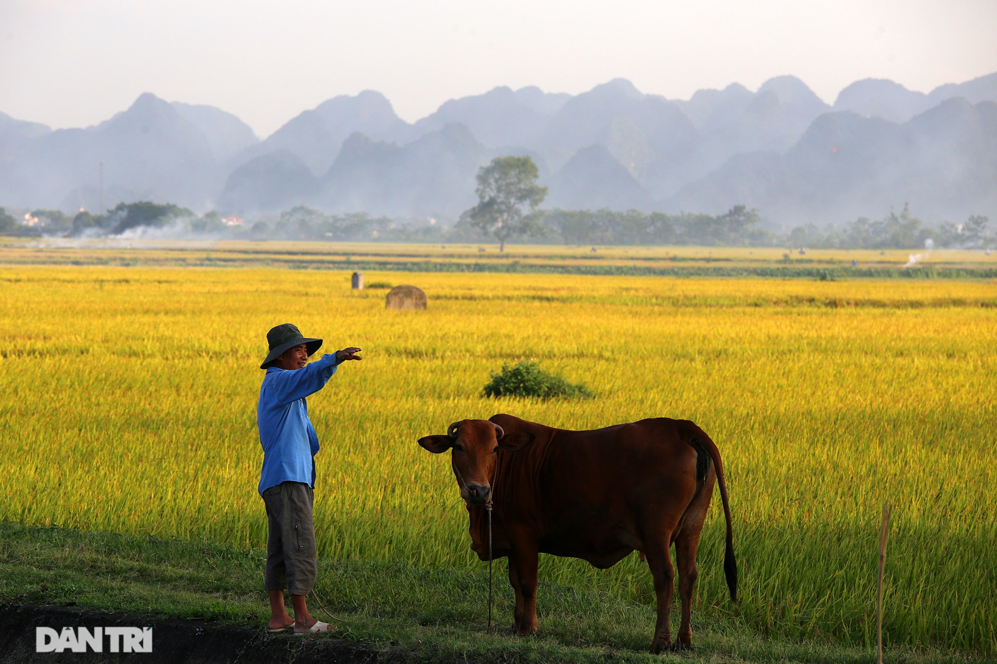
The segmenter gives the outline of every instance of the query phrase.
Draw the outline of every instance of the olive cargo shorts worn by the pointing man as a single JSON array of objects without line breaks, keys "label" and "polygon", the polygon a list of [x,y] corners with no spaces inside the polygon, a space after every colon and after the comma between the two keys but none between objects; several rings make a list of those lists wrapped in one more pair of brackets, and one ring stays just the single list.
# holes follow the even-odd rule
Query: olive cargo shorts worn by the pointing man
[{"label": "olive cargo shorts worn by the pointing man", "polygon": [[[284,482],[263,492],[270,534],[266,541],[266,590],[306,595],[315,585],[314,492],[300,482]],[[286,585],[285,585],[286,583]]]}]

